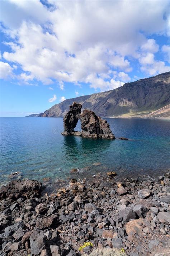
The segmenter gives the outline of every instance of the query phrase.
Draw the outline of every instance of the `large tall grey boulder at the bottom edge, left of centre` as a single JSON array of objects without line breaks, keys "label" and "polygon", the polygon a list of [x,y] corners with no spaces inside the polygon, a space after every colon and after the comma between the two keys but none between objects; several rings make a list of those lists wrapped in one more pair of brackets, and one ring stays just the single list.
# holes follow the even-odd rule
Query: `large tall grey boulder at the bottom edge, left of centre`
[{"label": "large tall grey boulder at the bottom edge, left of centre", "polygon": [[44,232],[42,230],[35,230],[29,238],[31,254],[38,255],[42,252],[44,243]]}]

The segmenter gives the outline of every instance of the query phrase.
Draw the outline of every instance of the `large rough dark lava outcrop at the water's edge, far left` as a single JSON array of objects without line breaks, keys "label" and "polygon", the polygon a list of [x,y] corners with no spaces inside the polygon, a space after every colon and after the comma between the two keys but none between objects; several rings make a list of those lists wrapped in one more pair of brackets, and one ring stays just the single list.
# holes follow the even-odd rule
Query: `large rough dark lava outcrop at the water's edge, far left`
[{"label": "large rough dark lava outcrop at the water's edge, far left", "polygon": [[0,188],[0,199],[9,197],[16,200],[21,195],[26,198],[38,197],[41,189],[42,183],[37,180],[13,180]]}]

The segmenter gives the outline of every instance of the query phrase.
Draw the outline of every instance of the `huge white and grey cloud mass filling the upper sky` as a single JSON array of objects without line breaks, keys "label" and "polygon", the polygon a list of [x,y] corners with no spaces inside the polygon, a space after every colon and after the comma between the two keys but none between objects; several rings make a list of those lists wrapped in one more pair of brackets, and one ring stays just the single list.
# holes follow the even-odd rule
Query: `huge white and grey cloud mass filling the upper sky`
[{"label": "huge white and grey cloud mass filling the upper sky", "polygon": [[3,57],[20,65],[18,77],[25,82],[114,89],[130,81],[133,58],[145,73],[149,65],[150,73],[167,69],[155,60],[159,45],[147,35],[167,35],[168,2],[2,1],[3,31],[11,38]]}]

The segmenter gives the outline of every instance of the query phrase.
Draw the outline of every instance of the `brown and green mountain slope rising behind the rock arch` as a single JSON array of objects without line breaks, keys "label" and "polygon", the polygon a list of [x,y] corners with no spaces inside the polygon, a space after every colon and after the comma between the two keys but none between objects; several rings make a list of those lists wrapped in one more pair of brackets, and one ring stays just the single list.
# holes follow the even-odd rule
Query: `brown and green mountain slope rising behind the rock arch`
[{"label": "brown and green mountain slope rising behind the rock arch", "polygon": [[155,111],[170,104],[170,72],[126,83],[104,93],[66,99],[39,114],[39,117],[64,116],[74,101],[103,117]]}]

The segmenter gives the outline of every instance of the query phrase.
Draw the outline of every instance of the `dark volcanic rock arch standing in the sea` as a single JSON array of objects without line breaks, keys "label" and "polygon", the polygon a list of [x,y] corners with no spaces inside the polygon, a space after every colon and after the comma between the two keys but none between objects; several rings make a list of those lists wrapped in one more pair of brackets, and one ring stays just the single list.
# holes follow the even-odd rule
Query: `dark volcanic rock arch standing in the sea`
[{"label": "dark volcanic rock arch standing in the sea", "polygon": [[[76,135],[85,138],[115,139],[106,120],[96,116],[96,114],[89,109],[84,109],[81,113],[81,108],[82,105],[77,102],[70,105],[70,111],[63,118],[63,135]],[[74,131],[79,119],[81,121],[82,131]]]}]

